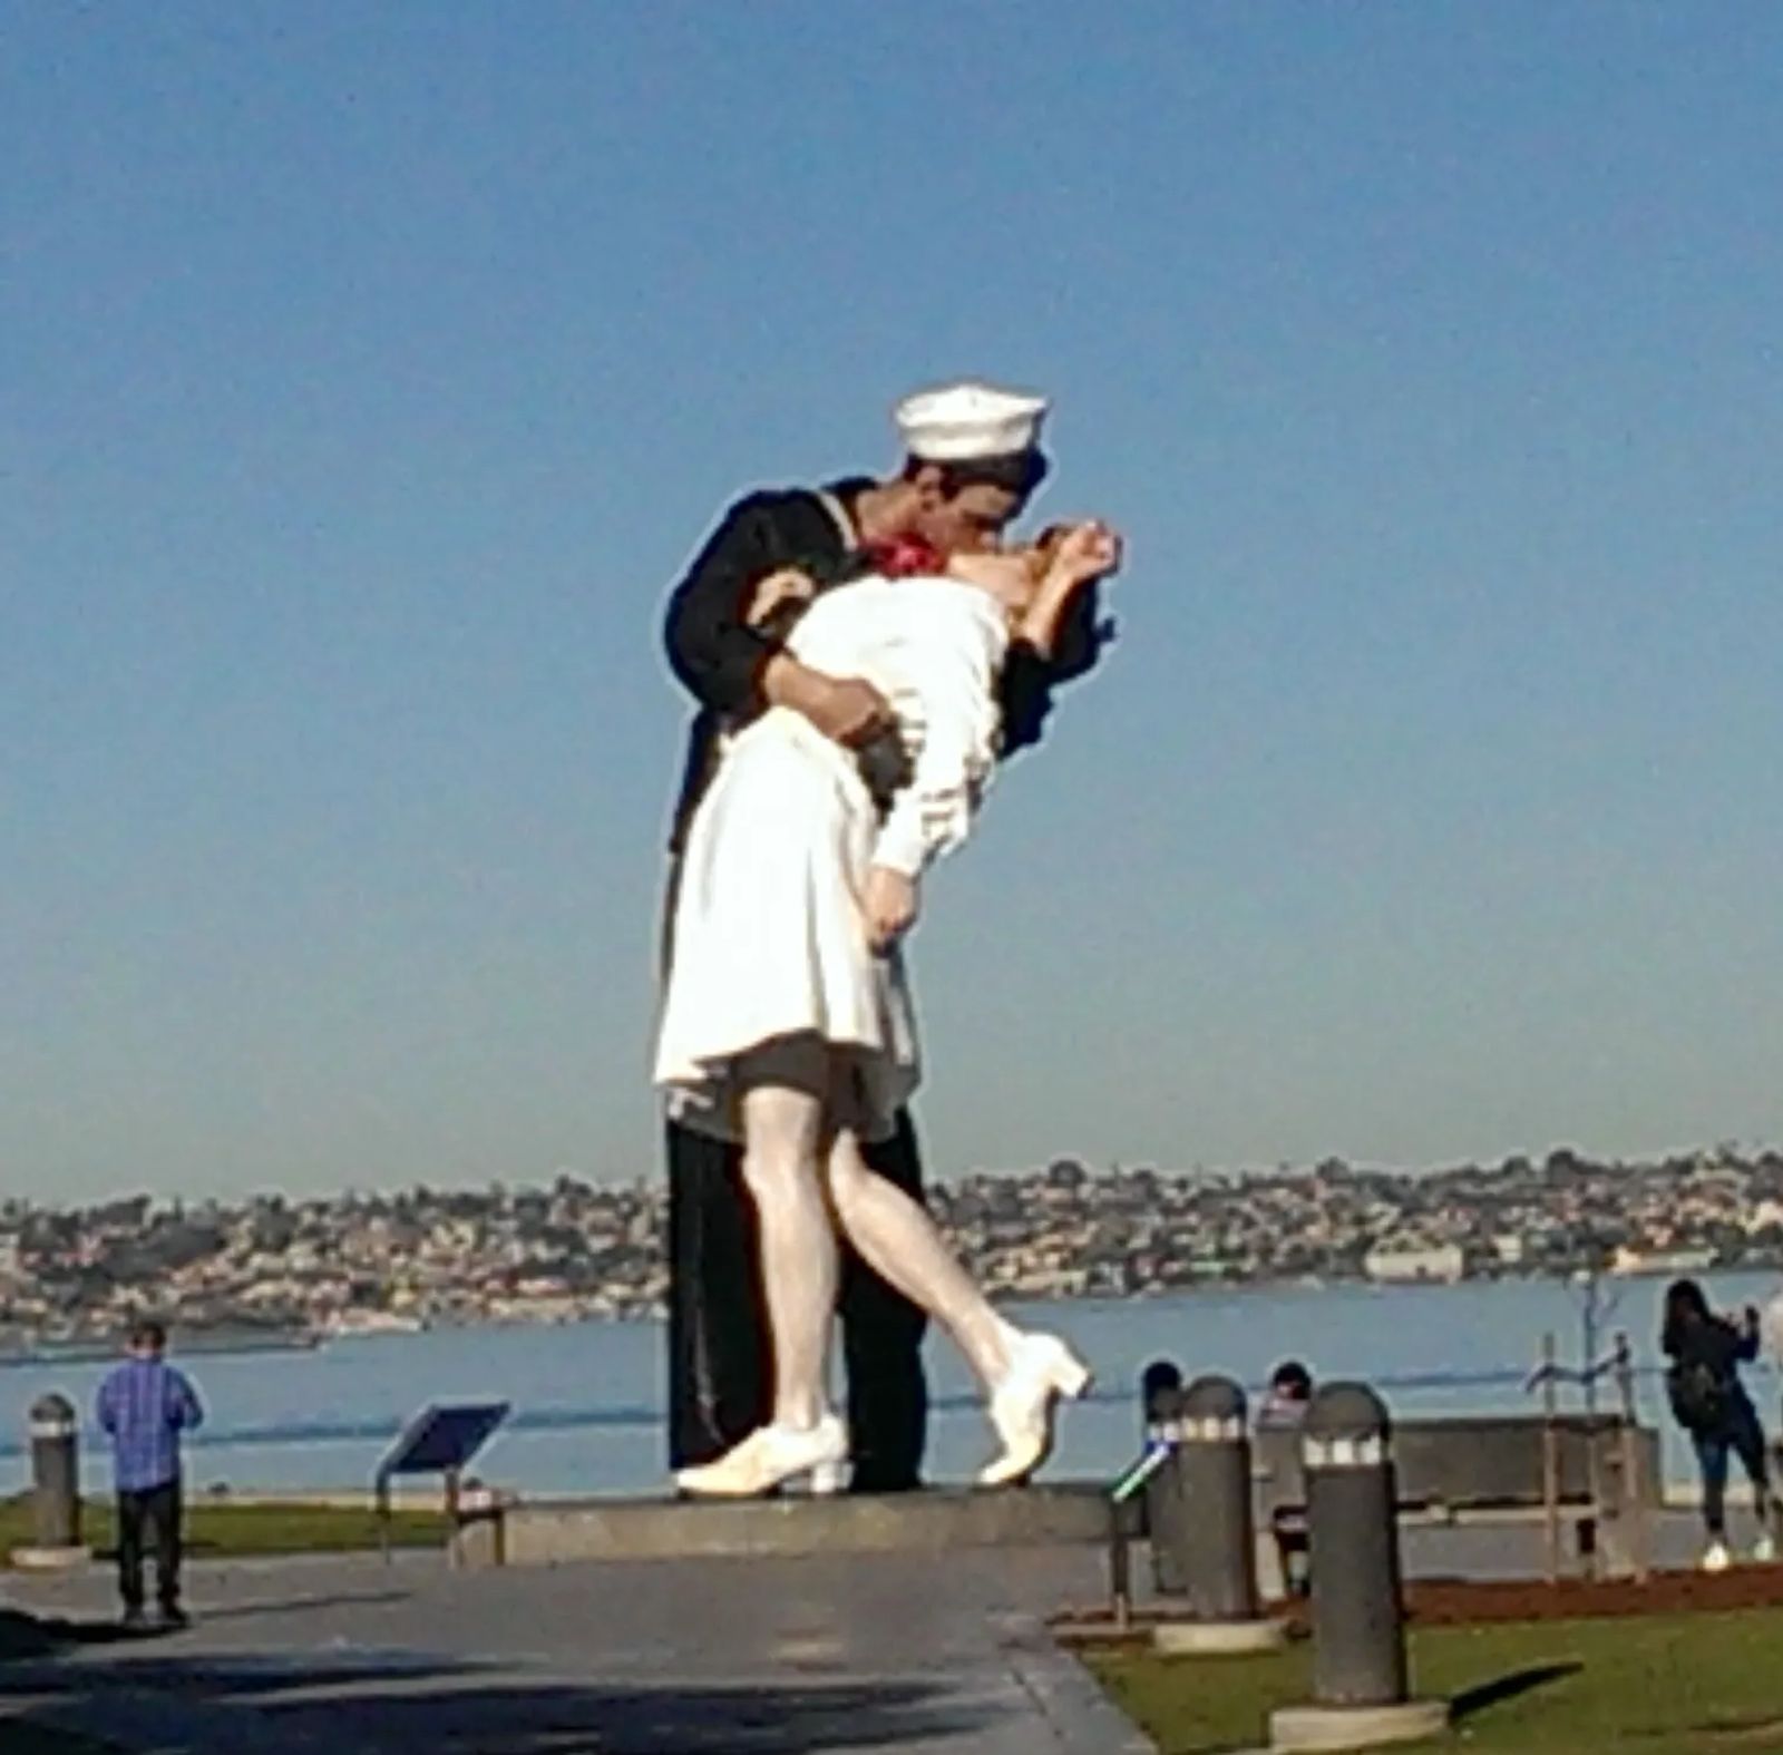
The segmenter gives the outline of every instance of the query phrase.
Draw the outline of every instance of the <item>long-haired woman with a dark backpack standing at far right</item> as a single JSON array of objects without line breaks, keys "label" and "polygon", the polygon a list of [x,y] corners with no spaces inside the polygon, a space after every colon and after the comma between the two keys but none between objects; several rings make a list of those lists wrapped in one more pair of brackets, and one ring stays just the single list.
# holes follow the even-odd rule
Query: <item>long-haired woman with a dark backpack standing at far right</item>
[{"label": "long-haired woman with a dark backpack standing at far right", "polygon": [[1747,1306],[1738,1322],[1717,1316],[1696,1281],[1672,1281],[1665,1288],[1660,1348],[1671,1359],[1665,1395],[1672,1418],[1689,1432],[1703,1471],[1703,1525],[1708,1532],[1703,1571],[1726,1571],[1731,1564],[1726,1512],[1730,1452],[1753,1482],[1760,1530],[1753,1559],[1776,1559],[1765,1434],[1740,1382],[1740,1366],[1758,1357],[1758,1311]]}]

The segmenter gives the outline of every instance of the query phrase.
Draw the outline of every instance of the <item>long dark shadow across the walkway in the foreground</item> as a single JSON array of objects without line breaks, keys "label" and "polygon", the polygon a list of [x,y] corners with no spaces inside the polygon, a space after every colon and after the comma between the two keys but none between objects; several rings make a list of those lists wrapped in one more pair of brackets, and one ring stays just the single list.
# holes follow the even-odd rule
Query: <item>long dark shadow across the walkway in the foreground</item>
[{"label": "long dark shadow across the walkway in the foreground", "polygon": [[[46,1719],[78,1701],[128,1730],[157,1719],[155,1755],[235,1755],[326,1748],[330,1755],[817,1755],[970,1735],[995,1709],[908,1682],[788,1685],[612,1685],[499,1680],[471,1664],[401,1653],[307,1666],[301,1659],[141,1660],[46,1668],[30,1693]],[[107,1703],[109,1696],[109,1703]],[[184,1712],[171,1732],[148,1703]]]}]

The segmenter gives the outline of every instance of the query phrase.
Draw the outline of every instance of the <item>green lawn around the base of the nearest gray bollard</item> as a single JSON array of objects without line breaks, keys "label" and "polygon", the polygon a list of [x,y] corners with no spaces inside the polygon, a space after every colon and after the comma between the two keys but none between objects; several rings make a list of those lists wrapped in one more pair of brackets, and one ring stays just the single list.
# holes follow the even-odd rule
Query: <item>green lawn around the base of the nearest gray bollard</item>
[{"label": "green lawn around the base of the nearest gray bollard", "polygon": [[[1519,1755],[1783,1755],[1779,1652],[1783,1609],[1410,1634],[1414,1694],[1460,1709],[1455,1726],[1423,1746]],[[1255,1748],[1273,1707],[1311,1698],[1303,1641],[1271,1657],[1091,1652],[1086,1660],[1163,1755]],[[1516,1691],[1519,1678],[1526,1685]],[[1469,1691],[1494,1684],[1505,1689],[1498,1700],[1469,1703]]]}]

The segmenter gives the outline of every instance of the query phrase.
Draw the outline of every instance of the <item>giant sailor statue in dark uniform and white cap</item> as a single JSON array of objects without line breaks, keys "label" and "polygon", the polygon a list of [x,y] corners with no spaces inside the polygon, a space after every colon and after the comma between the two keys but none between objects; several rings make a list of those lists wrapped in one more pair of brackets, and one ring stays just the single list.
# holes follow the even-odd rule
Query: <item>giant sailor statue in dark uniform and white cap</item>
[{"label": "giant sailor statue in dark uniform and white cap", "polygon": [[[984,385],[949,385],[906,398],[897,424],[904,467],[888,480],[845,478],[820,489],[754,492],[736,501],[669,597],[669,663],[699,703],[670,835],[665,920],[674,913],[678,858],[713,772],[727,724],[765,706],[790,706],[840,744],[877,747],[895,726],[888,703],[861,678],[802,667],[783,649],[783,621],[761,614],[758,587],[802,576],[843,589],[856,551],[915,537],[943,555],[995,548],[1047,474],[1038,448],[1045,403]],[[1052,690],[1089,671],[1107,637],[1095,590],[1073,605],[1056,644],[1016,644],[1000,683],[1002,753],[1039,740]],[[663,960],[672,945],[663,943]],[[667,1122],[669,1156],[669,1462],[711,1462],[768,1418],[772,1372],[761,1311],[754,1209],[738,1150]],[[870,1166],[922,1193],[916,1131],[908,1111]],[[843,1265],[842,1352],[852,1439],[852,1487],[920,1484],[927,1434],[922,1370],[925,1318],[858,1257]]]}]

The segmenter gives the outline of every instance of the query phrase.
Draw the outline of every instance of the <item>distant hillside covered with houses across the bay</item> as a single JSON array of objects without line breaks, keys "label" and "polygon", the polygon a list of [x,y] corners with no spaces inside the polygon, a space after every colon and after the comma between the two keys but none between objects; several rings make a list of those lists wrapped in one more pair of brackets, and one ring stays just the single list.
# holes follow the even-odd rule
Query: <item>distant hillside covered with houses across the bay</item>
[{"label": "distant hillside covered with houses across the bay", "polygon": [[[1138,1298],[1255,1281],[1460,1281],[1783,1263],[1783,1154],[1647,1163],[1573,1150],[1426,1172],[1059,1159],[929,1193],[998,1295]],[[203,1345],[307,1345],[444,1323],[661,1307],[656,1184],[282,1195],[89,1207],[0,1202],[0,1357],[114,1338],[139,1314]]]}]

